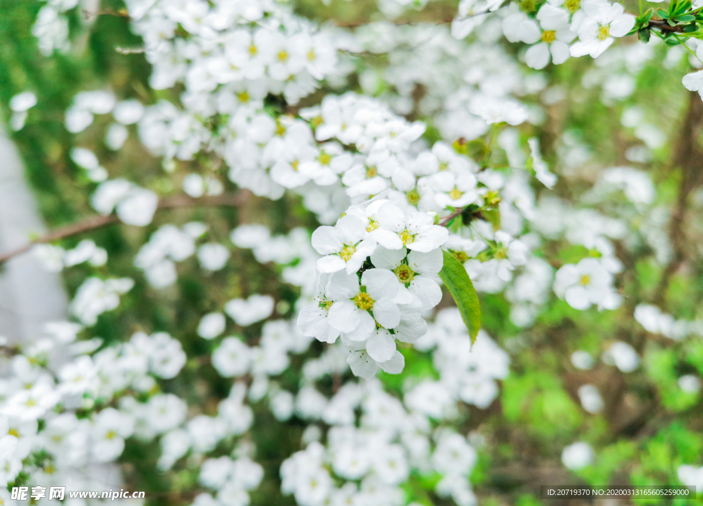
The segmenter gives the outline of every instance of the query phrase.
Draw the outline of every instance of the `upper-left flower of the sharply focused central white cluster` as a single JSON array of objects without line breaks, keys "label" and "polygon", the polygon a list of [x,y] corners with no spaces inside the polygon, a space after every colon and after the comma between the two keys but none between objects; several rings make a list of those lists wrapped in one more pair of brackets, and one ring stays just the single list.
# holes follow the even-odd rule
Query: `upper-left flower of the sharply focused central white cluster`
[{"label": "upper-left flower of the sharply focused central white cluster", "polygon": [[357,216],[342,216],[333,227],[319,227],[312,233],[312,247],[325,255],[317,261],[318,271],[335,273],[344,269],[347,274],[359,271],[376,249],[375,240],[365,237],[366,223]]}]

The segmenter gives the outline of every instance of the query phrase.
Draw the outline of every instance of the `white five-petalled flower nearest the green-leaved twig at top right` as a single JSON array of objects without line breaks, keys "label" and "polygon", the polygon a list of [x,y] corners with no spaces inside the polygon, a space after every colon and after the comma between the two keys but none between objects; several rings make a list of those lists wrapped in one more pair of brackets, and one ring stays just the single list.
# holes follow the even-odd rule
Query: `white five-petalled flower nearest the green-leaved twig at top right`
[{"label": "white five-petalled flower nearest the green-leaved twig at top right", "polygon": [[635,17],[624,13],[621,4],[602,7],[595,15],[588,16],[579,27],[579,42],[570,48],[571,56],[591,55],[598,58],[614,42],[613,37],[623,37],[635,26]]}]

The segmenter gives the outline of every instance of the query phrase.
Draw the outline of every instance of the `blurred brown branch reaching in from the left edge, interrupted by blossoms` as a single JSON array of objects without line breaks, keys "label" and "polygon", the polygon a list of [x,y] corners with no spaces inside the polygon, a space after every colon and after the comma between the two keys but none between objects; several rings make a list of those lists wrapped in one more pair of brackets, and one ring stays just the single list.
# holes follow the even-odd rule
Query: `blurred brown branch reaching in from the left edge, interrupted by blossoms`
[{"label": "blurred brown branch reaching in from the left edge, interrupted by blossoms", "polygon": [[[243,190],[240,190],[238,193],[224,193],[223,195],[197,199],[188,197],[188,195],[176,195],[175,197],[166,197],[160,200],[157,211],[164,209],[184,209],[188,207],[240,207],[245,203],[248,195],[249,192]],[[92,216],[78,223],[58,228],[55,231],[46,233],[46,235],[40,238],[27,242],[24,246],[18,247],[11,252],[0,254],[0,266],[9,259],[29,251],[34,245],[46,244],[47,242],[73,237],[74,235],[91,232],[118,222],[120,222],[120,219],[117,218],[116,214],[108,214],[108,216]]]}]

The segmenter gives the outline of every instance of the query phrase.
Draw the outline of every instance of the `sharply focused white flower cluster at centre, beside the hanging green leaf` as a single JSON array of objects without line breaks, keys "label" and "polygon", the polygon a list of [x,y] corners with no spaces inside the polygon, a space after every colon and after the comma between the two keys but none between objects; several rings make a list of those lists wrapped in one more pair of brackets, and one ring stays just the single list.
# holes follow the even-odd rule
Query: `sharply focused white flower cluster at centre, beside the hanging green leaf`
[{"label": "sharply focused white flower cluster at centre, beside the hanging green leaf", "polygon": [[403,355],[396,339],[413,343],[427,332],[420,316],[441,300],[439,247],[448,236],[422,212],[404,212],[388,200],[347,209],[335,226],[321,226],[312,245],[317,261],[314,305],[301,309],[305,335],[349,349],[355,375],[372,377],[378,367],[398,374]]}]

